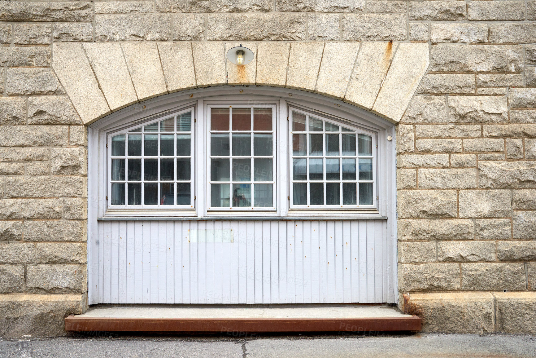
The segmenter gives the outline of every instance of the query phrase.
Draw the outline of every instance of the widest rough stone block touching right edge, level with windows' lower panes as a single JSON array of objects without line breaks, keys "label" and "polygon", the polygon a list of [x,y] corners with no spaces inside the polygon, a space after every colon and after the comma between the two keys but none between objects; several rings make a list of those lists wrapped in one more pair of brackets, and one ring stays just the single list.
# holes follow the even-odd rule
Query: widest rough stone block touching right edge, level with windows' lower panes
[{"label": "widest rough stone block touching right edge, level with windows' lower panes", "polygon": [[478,163],[481,188],[536,187],[536,162]]}]

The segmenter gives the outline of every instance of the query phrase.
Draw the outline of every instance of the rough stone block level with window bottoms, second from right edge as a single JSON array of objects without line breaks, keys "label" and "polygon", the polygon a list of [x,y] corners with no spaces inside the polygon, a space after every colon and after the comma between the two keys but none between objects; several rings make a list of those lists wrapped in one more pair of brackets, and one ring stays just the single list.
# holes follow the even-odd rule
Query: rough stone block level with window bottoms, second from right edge
[{"label": "rough stone block level with window bottoms, second from right edge", "polygon": [[511,214],[509,190],[462,190],[460,217],[504,217]]}]

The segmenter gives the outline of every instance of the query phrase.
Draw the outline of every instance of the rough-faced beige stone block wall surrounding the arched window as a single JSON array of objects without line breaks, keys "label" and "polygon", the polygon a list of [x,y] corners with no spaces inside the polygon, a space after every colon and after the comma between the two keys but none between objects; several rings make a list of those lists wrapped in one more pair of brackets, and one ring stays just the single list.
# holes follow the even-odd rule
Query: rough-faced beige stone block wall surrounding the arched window
[{"label": "rough-faced beige stone block wall surrounding the arched window", "polygon": [[[355,65],[370,41],[427,45],[428,73],[401,120],[377,111],[400,120],[400,305],[425,331],[535,333],[535,20],[534,0],[0,2],[0,336],[63,334],[63,318],[86,308],[87,111],[52,56],[79,41],[272,41],[266,52],[285,43],[287,54],[355,43]],[[359,90],[345,88],[345,98]]]}]

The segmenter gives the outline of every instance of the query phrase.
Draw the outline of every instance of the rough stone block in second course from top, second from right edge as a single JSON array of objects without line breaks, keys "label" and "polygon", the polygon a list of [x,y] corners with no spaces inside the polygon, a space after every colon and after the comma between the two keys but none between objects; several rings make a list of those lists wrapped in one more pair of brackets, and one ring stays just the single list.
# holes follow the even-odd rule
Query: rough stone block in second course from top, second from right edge
[{"label": "rough stone block in second course from top, second from right edge", "polygon": [[430,41],[438,42],[488,42],[487,24],[430,24]]}]

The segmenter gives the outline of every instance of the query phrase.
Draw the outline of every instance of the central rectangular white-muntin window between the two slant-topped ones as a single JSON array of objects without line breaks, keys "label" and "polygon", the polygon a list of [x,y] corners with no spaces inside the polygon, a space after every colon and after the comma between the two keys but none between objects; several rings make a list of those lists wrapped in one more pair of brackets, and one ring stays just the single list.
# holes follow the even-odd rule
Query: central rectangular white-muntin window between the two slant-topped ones
[{"label": "central rectangular white-muntin window between the two slant-topped ones", "polygon": [[209,105],[209,210],[276,209],[276,106]]}]

